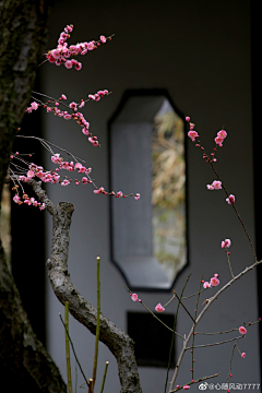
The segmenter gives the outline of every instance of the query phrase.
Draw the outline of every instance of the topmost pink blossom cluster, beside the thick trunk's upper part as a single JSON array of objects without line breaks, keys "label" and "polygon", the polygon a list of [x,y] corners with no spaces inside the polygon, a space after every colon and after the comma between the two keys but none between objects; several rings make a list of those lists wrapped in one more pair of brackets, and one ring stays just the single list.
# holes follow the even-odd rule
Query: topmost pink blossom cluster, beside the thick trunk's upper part
[{"label": "topmost pink blossom cluster, beside the thick trunk's upper part", "polygon": [[71,57],[78,55],[86,55],[87,51],[97,49],[97,47],[100,46],[100,43],[105,44],[107,40],[110,40],[111,37],[106,38],[102,35],[100,39],[97,41],[85,41],[76,45],[71,45],[69,47],[67,40],[70,37],[70,33],[72,33],[72,31],[73,25],[67,25],[64,27],[58,39],[57,48],[49,50],[46,55],[46,58],[50,63],[55,63],[56,66],[64,64],[67,69],[71,69],[74,67],[76,71],[80,71],[82,69],[82,63],[76,61],[75,59],[71,59]]}]

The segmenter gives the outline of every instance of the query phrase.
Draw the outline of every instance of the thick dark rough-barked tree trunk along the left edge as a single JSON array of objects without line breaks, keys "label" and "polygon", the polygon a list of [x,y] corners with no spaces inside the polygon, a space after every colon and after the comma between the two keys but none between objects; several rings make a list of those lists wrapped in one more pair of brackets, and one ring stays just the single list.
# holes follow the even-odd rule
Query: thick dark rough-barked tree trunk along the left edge
[{"label": "thick dark rough-barked tree trunk along the left edge", "polygon": [[[0,195],[13,141],[46,49],[47,15],[46,0],[0,1]],[[21,252],[26,262],[26,250]],[[57,366],[32,330],[1,241],[0,370],[0,386],[5,383],[9,392],[67,391]]]}]

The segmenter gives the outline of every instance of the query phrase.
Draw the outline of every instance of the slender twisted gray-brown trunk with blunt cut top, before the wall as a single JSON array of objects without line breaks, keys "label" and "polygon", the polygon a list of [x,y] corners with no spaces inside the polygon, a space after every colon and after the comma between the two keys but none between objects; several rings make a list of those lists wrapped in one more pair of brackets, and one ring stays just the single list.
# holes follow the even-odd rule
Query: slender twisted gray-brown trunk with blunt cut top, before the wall
[{"label": "slender twisted gray-brown trunk with blunt cut top, before the wall", "polygon": [[[39,201],[46,204],[47,211],[52,215],[51,255],[47,261],[52,289],[62,305],[69,302],[70,313],[95,334],[96,309],[78,293],[68,271],[69,235],[74,206],[67,202],[53,205],[40,183],[40,181],[29,181]],[[117,359],[121,393],[141,393],[133,341],[103,314],[100,314],[99,340]]]}]

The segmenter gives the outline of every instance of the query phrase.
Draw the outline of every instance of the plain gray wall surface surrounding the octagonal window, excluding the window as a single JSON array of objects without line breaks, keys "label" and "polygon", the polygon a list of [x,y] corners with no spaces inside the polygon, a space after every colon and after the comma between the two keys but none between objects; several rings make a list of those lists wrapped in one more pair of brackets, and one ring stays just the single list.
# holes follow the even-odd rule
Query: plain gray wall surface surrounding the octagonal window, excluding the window
[{"label": "plain gray wall surface surrounding the octagonal window, excluding the window", "polygon": [[[41,92],[57,97],[64,93],[69,102],[78,102],[100,88],[108,88],[114,94],[99,103],[88,103],[83,110],[91,122],[91,131],[102,143],[102,150],[87,143],[72,121],[59,119],[52,114],[43,117],[46,139],[85,159],[87,166],[94,168],[96,183],[108,188],[107,121],[123,92],[127,88],[167,88],[179,110],[191,116],[196,123],[195,129],[207,152],[214,146],[216,132],[225,124],[228,138],[218,151],[216,167],[229,192],[236,194],[236,206],[253,239],[249,1],[56,1],[51,12],[49,49],[56,47],[60,32],[70,23],[75,27],[70,38],[72,44],[97,39],[100,34],[115,33],[116,36],[99,50],[81,57],[81,72],[45,63]],[[176,282],[178,293],[189,273],[192,276],[187,294],[196,290],[201,274],[209,279],[214,273],[219,273],[222,285],[230,278],[226,257],[219,248],[225,237],[233,241],[235,273],[253,261],[249,242],[236,214],[225,202],[225,195],[222,191],[206,190],[206,183],[214,179],[200,151],[188,141],[190,264]],[[130,300],[123,289],[122,276],[110,262],[109,199],[93,194],[92,186],[52,186],[48,190],[55,202],[75,204],[69,259],[74,285],[95,305],[96,255],[100,255],[102,311],[126,330],[126,312],[142,309]],[[129,200],[126,202],[131,203]],[[47,217],[47,252],[50,234],[51,223]],[[214,289],[211,290],[213,293]],[[152,309],[169,298],[169,294],[140,293],[139,296]],[[48,349],[66,378],[64,337],[58,317],[63,307],[49,286],[46,301]],[[188,307],[193,310],[193,301],[189,300]],[[257,281],[255,272],[252,272],[223,294],[198,331],[238,327],[243,321],[255,319]],[[178,332],[187,333],[190,324],[189,318],[181,311]],[[70,320],[70,331],[82,367],[91,374],[94,337],[73,320]],[[258,345],[258,330],[253,326],[239,343],[247,358],[242,360],[237,354],[234,357],[234,382],[260,382]],[[176,346],[178,352],[180,340],[177,340]],[[231,345],[228,344],[199,349],[195,353],[195,378],[221,372],[217,382],[226,382],[230,355]],[[117,365],[109,350],[100,345],[98,384],[106,360],[110,364],[105,391],[115,393],[119,391]],[[190,368],[186,356],[178,383],[190,380]],[[164,369],[140,368],[140,376],[144,393],[164,391]],[[196,392],[196,385],[191,390]]]}]

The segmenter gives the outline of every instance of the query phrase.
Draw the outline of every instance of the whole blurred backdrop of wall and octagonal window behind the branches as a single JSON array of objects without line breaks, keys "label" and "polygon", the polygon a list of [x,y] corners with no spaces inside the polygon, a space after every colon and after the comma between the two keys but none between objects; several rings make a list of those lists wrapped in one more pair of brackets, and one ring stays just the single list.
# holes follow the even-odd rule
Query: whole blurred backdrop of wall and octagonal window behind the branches
[{"label": "whole blurred backdrop of wall and octagonal window behind the branches", "polygon": [[[216,169],[228,191],[236,195],[236,207],[261,258],[257,21],[253,2],[248,0],[76,3],[63,0],[53,1],[51,8],[47,50],[57,46],[67,24],[74,25],[69,45],[115,34],[111,41],[97,50],[81,59],[79,56],[81,71],[44,63],[35,86],[56,98],[63,93],[68,103],[86,99],[88,94],[104,88],[112,92],[83,108],[102,148],[91,145],[75,122],[46,114],[43,108],[25,118],[22,132],[45,138],[83,158],[93,168],[92,177],[98,187],[111,191],[114,186],[116,192],[142,194],[139,201],[111,201],[109,196],[95,195],[92,184],[47,187],[55,203],[68,201],[75,205],[69,258],[74,286],[96,305],[99,255],[102,312],[133,335],[138,347],[147,340],[146,350],[136,350],[144,393],[164,391],[170,337],[168,332],[145,322],[144,309],[130,300],[123,284],[136,290],[154,310],[156,303],[170,299],[172,288],[181,291],[190,273],[186,296],[198,290],[201,275],[209,281],[214,273],[219,274],[221,286],[230,279],[227,258],[221,249],[225,238],[233,242],[235,274],[253,262],[249,241],[234,210],[225,202],[225,194],[206,190],[215,177],[200,150],[187,138],[184,116],[196,124],[207,153],[215,146],[217,131],[227,131],[224,146],[217,152]],[[22,146],[20,141],[16,150],[35,152],[34,163],[44,162],[47,168],[52,168],[50,155],[41,152],[36,142],[26,141]],[[7,216],[3,230],[12,271],[33,327],[66,379],[64,336],[58,317],[63,313],[63,306],[52,294],[45,271],[51,219],[47,212],[33,207],[14,204],[10,207],[8,192],[2,213]],[[23,224],[17,225],[17,221]],[[33,274],[27,274],[32,267]],[[198,331],[224,331],[258,320],[260,279],[261,272],[257,270],[235,283],[212,306]],[[214,290],[210,289],[210,294]],[[38,296],[33,297],[33,293]],[[202,295],[201,303],[209,296]],[[193,312],[194,298],[187,300],[187,307]],[[163,318],[172,323],[175,311],[176,303],[171,302]],[[183,335],[190,326],[190,319],[180,310],[178,332]],[[70,332],[82,367],[91,374],[94,337],[73,319]],[[163,345],[156,345],[156,340],[163,341]],[[198,340],[198,344],[210,342],[204,336]],[[195,352],[195,379],[221,372],[213,383],[226,382],[231,347],[229,343]],[[242,360],[235,354],[231,382],[260,383],[258,325],[248,330],[239,347],[247,357]],[[178,337],[174,360],[180,349]],[[100,344],[97,384],[106,360],[109,368],[105,391],[117,392],[120,385],[116,360]],[[190,368],[187,354],[179,384],[190,381]],[[83,382],[80,372],[79,382]],[[196,392],[198,386],[191,390]]]}]

